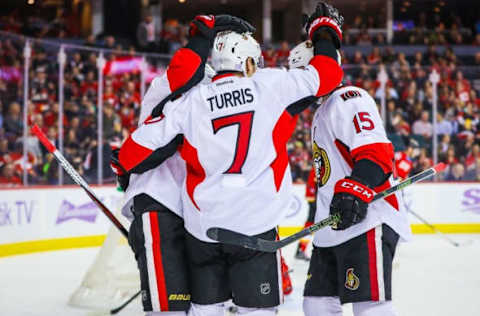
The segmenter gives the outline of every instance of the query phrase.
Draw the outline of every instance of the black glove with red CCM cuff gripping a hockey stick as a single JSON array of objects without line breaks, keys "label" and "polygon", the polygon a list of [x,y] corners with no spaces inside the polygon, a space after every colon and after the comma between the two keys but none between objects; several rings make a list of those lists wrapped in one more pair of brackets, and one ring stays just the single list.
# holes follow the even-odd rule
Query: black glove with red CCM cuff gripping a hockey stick
[{"label": "black glove with red CCM cuff gripping a hockey stick", "polygon": [[374,196],[375,192],[358,179],[346,177],[338,180],[330,203],[330,214],[339,214],[340,222],[332,229],[344,230],[363,221],[367,216],[368,203]]}]

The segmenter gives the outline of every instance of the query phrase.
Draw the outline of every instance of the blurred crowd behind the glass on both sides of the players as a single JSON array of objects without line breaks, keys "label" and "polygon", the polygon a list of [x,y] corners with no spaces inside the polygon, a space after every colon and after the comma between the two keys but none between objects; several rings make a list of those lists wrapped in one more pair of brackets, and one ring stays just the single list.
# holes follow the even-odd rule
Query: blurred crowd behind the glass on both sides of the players
[{"label": "blurred crowd behind the glass on both sides of the players", "polygon": [[[148,18],[145,18],[148,23]],[[162,37],[169,38],[166,52],[185,42],[185,30],[175,21],[166,22]],[[182,31],[183,30],[183,31]],[[145,34],[147,32],[147,34]],[[139,26],[138,35],[145,39],[146,51],[159,49],[149,43],[148,30]],[[106,55],[108,62],[126,60],[131,64],[134,48],[125,52],[115,38],[105,37],[101,44],[95,38],[87,46],[116,50]],[[51,45],[51,44],[49,44]],[[22,183],[22,172],[28,171],[29,184],[58,183],[58,165],[32,135],[23,137],[23,46],[24,40],[2,38],[0,41],[0,185]],[[281,42],[265,45],[266,66],[286,66],[293,45]],[[438,85],[437,134],[439,161],[448,164],[442,179],[446,181],[480,180],[480,97],[475,79],[480,79],[480,52],[458,57],[450,48],[431,45],[425,52],[406,55],[391,47],[372,46],[368,54],[355,51],[343,54],[345,83],[364,88],[378,104],[386,99],[387,133],[397,152],[397,167],[407,166],[406,175],[433,164],[432,85],[428,76],[436,70]],[[28,124],[39,125],[49,139],[58,144],[58,47],[34,42],[29,72]],[[97,52],[70,50],[64,74],[63,135],[64,153],[89,182],[97,182],[98,71]],[[468,60],[469,66],[466,66]],[[163,63],[168,60],[164,60]],[[123,67],[123,66],[122,66]],[[377,79],[385,70],[389,81],[382,89]],[[118,145],[137,125],[141,76],[138,68],[119,73],[104,72],[103,86],[103,157],[104,182],[112,182],[109,168],[110,145]],[[310,124],[314,109],[300,115],[296,132],[288,144],[295,182],[306,181],[311,168]],[[23,146],[28,151],[22,162]],[[406,176],[404,175],[404,176]],[[68,176],[64,183],[71,183]]]}]

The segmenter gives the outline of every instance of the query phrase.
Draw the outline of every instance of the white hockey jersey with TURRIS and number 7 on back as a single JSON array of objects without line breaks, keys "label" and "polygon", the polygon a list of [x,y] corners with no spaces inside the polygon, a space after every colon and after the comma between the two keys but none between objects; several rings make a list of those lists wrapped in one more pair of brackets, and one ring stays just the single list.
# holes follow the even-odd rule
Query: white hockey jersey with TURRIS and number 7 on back
[{"label": "white hockey jersey with TURRIS and number 7 on back", "polygon": [[292,197],[286,142],[292,117],[303,109],[288,105],[322,91],[322,60],[336,65],[320,57],[305,70],[260,69],[251,78],[220,75],[196,86],[171,102],[163,119],[145,121],[127,139],[122,165],[134,170],[183,135],[182,201],[192,235],[212,242],[206,236],[210,227],[249,235],[276,227]]}]

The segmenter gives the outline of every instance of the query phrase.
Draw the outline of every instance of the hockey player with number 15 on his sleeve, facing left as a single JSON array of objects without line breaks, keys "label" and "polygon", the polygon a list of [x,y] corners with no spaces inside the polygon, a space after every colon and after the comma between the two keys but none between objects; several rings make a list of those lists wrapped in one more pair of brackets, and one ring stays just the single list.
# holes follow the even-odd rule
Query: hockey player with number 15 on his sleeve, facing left
[{"label": "hockey player with number 15 on his sleeve, facing left", "polygon": [[[301,43],[290,55],[291,67],[304,67],[312,49]],[[394,315],[392,260],[410,227],[401,194],[368,204],[393,183],[393,146],[365,90],[339,86],[319,103],[312,123],[315,221],[339,213],[341,222],[314,236],[305,315],[339,316],[344,303],[353,303],[355,316]]]}]

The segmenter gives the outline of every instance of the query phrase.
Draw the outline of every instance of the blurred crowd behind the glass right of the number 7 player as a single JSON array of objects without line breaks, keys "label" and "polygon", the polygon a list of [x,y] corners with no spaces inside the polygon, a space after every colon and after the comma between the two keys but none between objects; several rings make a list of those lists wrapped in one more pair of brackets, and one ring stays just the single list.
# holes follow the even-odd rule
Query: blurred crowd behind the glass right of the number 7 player
[{"label": "blurred crowd behind the glass right of the number 7 player", "polygon": [[[440,180],[480,181],[480,52],[473,60],[474,65],[464,66],[452,49],[440,54],[435,46],[412,56],[378,47],[368,55],[356,51],[342,56],[345,84],[365,89],[377,101],[379,110],[385,96],[387,134],[402,177],[433,166],[433,87],[429,75],[436,71],[438,160],[448,165]],[[382,70],[389,78],[385,89],[378,80]],[[310,160],[305,162],[310,158],[310,135],[305,131],[311,117],[311,111],[303,113],[290,143],[290,162],[297,182],[305,181],[310,168]]]}]

